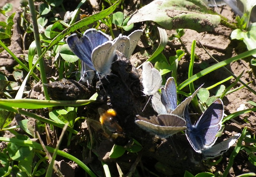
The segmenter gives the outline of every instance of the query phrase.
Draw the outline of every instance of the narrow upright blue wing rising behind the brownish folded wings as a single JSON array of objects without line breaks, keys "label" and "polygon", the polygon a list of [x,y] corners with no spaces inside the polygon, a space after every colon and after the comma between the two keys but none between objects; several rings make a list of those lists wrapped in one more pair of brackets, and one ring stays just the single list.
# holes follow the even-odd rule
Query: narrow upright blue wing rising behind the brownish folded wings
[{"label": "narrow upright blue wing rising behind the brownish folded wings", "polygon": [[171,113],[177,107],[177,91],[173,77],[169,77],[162,90],[161,101],[168,113]]}]

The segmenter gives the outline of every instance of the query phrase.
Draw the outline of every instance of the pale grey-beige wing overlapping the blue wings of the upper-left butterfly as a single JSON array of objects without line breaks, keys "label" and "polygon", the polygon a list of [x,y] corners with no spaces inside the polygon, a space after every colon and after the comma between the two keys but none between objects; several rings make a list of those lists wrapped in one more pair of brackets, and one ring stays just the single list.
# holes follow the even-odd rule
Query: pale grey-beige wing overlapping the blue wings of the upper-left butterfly
[{"label": "pale grey-beige wing overlapping the blue wings of the upper-left butterfly", "polygon": [[101,75],[107,75],[110,72],[116,49],[112,41],[107,41],[92,50],[92,63],[95,70]]}]

